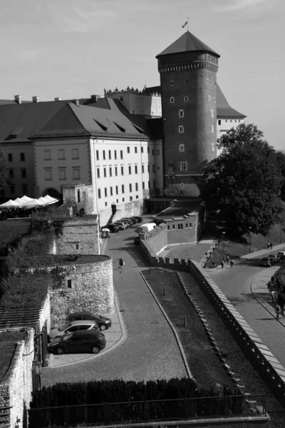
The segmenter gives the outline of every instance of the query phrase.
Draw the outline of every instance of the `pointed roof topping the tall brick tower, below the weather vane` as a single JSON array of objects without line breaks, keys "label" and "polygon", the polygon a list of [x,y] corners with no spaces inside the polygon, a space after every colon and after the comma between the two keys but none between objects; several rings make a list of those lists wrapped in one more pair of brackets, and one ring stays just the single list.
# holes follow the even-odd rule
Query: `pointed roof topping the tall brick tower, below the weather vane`
[{"label": "pointed roof topping the tall brick tower, below the weather vane", "polygon": [[193,51],[205,51],[210,52],[211,54],[217,55],[219,58],[219,54],[213,51],[213,49],[209,48],[206,44],[204,44],[201,40],[197,39],[194,34],[190,33],[190,31],[186,31],[185,34],[173,42],[168,48],[158,54],[155,58],[158,58],[162,55],[169,54],[178,54],[181,52],[193,52]]}]

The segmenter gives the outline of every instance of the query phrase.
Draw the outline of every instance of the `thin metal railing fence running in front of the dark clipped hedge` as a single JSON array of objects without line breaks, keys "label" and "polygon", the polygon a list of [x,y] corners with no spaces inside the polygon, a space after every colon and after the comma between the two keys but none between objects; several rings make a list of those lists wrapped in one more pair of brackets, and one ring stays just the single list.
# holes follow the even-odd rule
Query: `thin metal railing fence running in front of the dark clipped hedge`
[{"label": "thin metal railing fence running in front of the dark clipped hedge", "polygon": [[81,404],[28,409],[28,427],[73,427],[78,424],[118,424],[199,419],[207,417],[261,416],[265,395],[160,399],[138,402]]}]

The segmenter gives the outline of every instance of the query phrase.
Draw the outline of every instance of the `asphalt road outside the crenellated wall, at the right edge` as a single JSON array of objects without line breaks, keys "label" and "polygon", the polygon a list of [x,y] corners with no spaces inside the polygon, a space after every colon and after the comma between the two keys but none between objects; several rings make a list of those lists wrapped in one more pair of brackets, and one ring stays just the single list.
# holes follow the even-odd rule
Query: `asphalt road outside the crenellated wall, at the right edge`
[{"label": "asphalt road outside the crenellated wall, at the right edge", "polygon": [[[271,270],[273,275],[276,270],[274,267],[260,267],[260,259],[270,253],[277,253],[279,250],[285,250],[285,245],[282,248],[279,246],[278,250],[264,250],[263,254],[255,256],[253,254],[253,258],[244,260],[232,268],[225,265],[224,269],[218,267],[214,270],[209,269],[207,272],[254,332],[269,347],[274,357],[285,367],[285,327],[257,302],[251,290],[254,277],[259,275],[257,278],[261,278],[262,272],[265,270],[267,273],[268,270]],[[268,301],[271,301],[269,293]]]}]

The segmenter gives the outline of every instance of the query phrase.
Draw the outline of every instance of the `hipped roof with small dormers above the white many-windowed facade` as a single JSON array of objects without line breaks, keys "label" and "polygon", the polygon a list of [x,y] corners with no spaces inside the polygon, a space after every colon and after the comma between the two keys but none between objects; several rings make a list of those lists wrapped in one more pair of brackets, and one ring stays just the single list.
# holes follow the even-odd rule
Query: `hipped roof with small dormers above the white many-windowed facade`
[{"label": "hipped roof with small dormers above the white many-windowed facade", "polygon": [[[106,103],[108,103],[109,109],[106,108]],[[100,103],[95,103],[92,108],[68,103],[31,138],[56,138],[58,136],[155,138],[152,134],[154,124],[148,126],[145,118],[130,114],[120,101],[106,98],[103,108],[99,106]]]}]

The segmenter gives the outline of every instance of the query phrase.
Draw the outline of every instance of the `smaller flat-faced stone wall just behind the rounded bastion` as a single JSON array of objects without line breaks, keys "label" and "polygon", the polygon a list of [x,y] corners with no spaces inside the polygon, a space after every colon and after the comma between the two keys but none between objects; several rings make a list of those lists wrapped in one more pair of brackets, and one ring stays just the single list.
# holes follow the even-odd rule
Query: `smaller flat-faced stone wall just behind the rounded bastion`
[{"label": "smaller flat-faced stone wall just behind the rounded bastion", "polygon": [[97,216],[65,220],[63,235],[55,240],[53,254],[100,254]]}]

